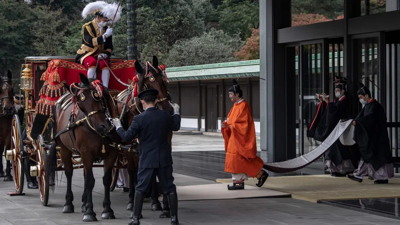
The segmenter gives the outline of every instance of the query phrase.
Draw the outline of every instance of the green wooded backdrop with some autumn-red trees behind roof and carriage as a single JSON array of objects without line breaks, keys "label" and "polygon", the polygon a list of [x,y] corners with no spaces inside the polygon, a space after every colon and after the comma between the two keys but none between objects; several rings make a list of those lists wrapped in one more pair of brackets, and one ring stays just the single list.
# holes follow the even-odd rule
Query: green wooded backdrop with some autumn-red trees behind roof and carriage
[{"label": "green wooded backdrop with some autumn-red trees behind roof and carriage", "polygon": [[[0,75],[27,56],[76,55],[83,7],[94,0],[0,0]],[[106,0],[110,2],[110,0]],[[371,0],[380,4],[384,0]],[[258,0],[135,0],[139,60],[167,67],[259,58]],[[113,55],[127,58],[126,0]],[[292,26],[341,19],[343,0],[292,0]],[[17,81],[19,82],[19,81]]]}]

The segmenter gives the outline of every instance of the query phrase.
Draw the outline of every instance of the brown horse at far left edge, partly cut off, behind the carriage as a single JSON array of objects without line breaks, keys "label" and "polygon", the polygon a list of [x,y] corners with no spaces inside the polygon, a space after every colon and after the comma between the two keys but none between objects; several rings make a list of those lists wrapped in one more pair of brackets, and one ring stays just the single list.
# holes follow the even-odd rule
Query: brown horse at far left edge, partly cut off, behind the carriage
[{"label": "brown horse at far left edge, partly cut off, behind the carriage", "polygon": [[11,162],[6,160],[5,174],[2,163],[4,148],[9,149],[11,147],[11,121],[12,115],[16,113],[11,78],[10,70],[8,70],[7,77],[0,77],[0,177],[4,176],[4,181],[13,180]]}]

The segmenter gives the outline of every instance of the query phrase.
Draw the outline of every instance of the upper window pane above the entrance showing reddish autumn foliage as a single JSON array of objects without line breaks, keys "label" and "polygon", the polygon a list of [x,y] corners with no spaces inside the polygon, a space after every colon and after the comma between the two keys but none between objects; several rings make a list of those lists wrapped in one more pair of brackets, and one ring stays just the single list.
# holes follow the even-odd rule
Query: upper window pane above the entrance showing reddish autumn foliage
[{"label": "upper window pane above the entrance showing reddish autumn foliage", "polygon": [[291,26],[343,18],[343,0],[291,0]]}]

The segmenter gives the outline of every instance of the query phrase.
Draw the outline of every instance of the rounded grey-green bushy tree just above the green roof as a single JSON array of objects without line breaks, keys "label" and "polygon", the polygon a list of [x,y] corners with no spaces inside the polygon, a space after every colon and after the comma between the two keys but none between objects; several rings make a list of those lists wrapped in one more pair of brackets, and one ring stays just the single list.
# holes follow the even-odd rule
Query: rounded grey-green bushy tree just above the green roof
[{"label": "rounded grey-green bushy tree just above the green roof", "polygon": [[243,44],[240,38],[211,28],[200,36],[177,41],[164,61],[167,67],[235,61],[233,53]]}]

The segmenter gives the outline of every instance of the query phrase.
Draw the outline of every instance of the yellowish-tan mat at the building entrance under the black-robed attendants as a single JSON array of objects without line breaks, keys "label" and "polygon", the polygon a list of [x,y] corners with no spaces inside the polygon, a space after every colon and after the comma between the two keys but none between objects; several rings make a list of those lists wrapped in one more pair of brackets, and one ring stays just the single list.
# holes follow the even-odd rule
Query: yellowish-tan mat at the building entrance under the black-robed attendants
[{"label": "yellowish-tan mat at the building entrance under the black-robed attendants", "polygon": [[[230,183],[231,179],[217,179]],[[249,178],[245,185],[255,186],[256,179]],[[364,177],[359,183],[347,177],[327,175],[273,176],[268,177],[262,188],[290,193],[292,198],[318,202],[319,200],[400,197],[400,174],[388,184],[374,184]]]}]

